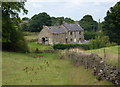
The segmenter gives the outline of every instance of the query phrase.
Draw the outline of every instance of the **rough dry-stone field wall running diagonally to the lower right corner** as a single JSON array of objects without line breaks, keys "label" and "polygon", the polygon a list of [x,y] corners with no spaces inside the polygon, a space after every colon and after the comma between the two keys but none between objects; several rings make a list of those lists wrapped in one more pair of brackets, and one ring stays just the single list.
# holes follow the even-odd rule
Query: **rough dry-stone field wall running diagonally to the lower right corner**
[{"label": "rough dry-stone field wall running diagonally to the lower right corner", "polygon": [[111,66],[104,62],[101,57],[96,54],[78,54],[75,52],[64,52],[60,59],[70,58],[75,66],[84,66],[85,69],[92,69],[93,75],[98,80],[108,80],[113,84],[120,85],[120,70],[118,66]]}]

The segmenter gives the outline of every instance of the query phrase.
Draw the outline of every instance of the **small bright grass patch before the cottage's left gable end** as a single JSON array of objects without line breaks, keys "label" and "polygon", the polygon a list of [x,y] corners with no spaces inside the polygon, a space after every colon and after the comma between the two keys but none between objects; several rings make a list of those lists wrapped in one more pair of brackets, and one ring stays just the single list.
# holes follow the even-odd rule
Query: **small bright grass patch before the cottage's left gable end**
[{"label": "small bright grass patch before the cottage's left gable end", "polygon": [[38,48],[38,49],[41,49],[41,50],[49,49],[50,48],[50,46],[48,46],[48,45],[41,45],[41,44],[38,44],[37,42],[29,42],[28,43],[28,47],[30,49],[36,49],[36,48]]}]

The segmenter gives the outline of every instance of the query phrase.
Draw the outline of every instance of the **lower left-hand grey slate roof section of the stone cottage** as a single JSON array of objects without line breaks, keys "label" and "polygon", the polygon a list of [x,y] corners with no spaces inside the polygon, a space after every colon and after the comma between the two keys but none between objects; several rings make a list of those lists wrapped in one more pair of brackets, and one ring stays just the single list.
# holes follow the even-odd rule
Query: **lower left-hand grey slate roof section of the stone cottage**
[{"label": "lower left-hand grey slate roof section of the stone cottage", "polygon": [[48,28],[52,33],[66,33],[65,28],[62,26],[50,26]]}]

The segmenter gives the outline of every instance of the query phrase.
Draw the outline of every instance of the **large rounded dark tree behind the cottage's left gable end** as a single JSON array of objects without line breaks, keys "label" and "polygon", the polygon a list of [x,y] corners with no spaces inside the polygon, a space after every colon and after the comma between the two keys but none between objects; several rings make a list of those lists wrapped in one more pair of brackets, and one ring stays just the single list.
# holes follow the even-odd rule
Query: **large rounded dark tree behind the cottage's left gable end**
[{"label": "large rounded dark tree behind the cottage's left gable end", "polygon": [[47,13],[45,12],[39,13],[38,15],[34,15],[31,18],[31,21],[29,24],[29,31],[39,32],[43,28],[43,25],[50,26],[51,23],[52,23],[51,18]]}]

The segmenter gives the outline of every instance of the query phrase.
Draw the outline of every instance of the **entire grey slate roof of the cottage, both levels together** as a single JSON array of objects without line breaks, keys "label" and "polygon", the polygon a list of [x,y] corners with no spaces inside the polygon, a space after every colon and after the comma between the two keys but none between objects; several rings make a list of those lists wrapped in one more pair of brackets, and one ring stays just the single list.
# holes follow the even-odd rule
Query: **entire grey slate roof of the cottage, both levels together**
[{"label": "entire grey slate roof of the cottage, both levels together", "polygon": [[81,31],[83,28],[78,24],[63,24],[63,26],[48,27],[52,33],[66,33],[67,31]]}]

